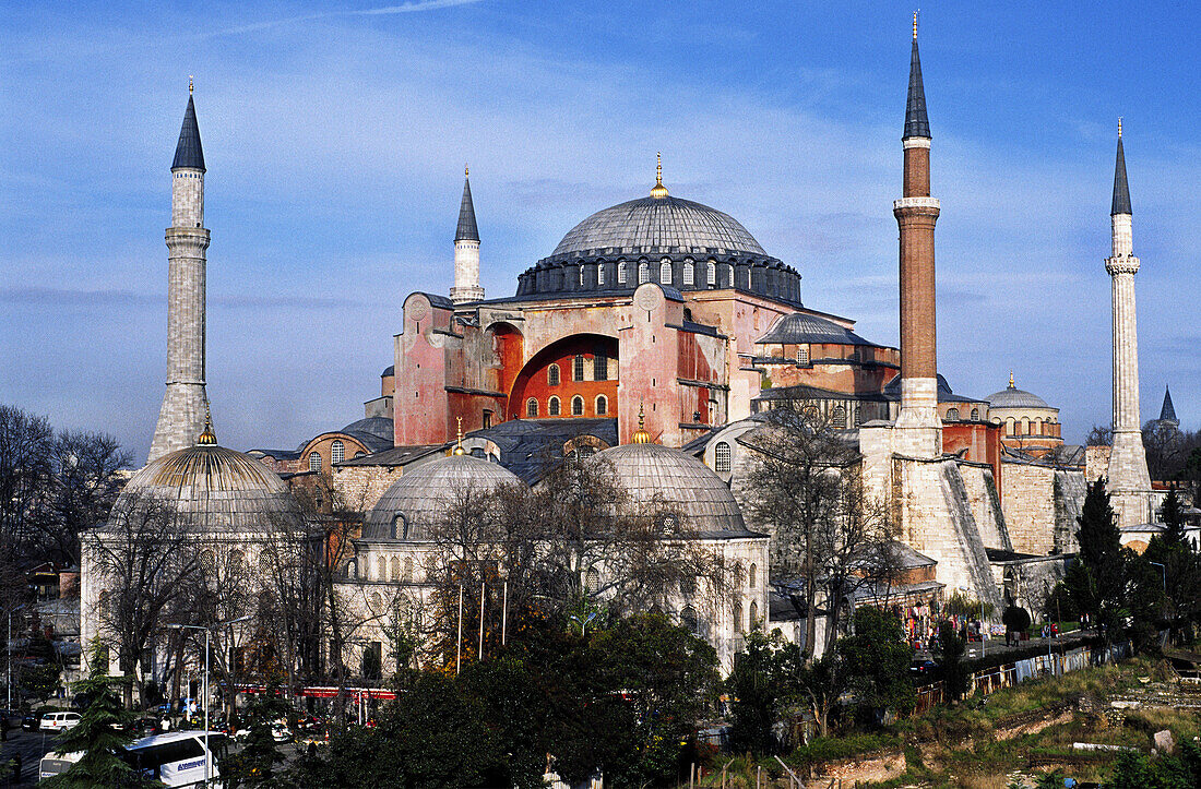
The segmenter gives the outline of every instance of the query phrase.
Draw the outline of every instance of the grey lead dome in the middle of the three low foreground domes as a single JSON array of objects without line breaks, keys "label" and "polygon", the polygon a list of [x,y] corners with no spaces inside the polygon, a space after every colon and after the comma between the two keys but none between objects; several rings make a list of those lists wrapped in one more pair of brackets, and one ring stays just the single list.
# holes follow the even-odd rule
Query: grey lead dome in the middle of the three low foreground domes
[{"label": "grey lead dome in the middle of the three low foreground domes", "polygon": [[513,472],[479,458],[450,455],[435,460],[405,472],[384,491],[368,513],[363,539],[428,540],[431,527],[464,492],[486,492],[513,483],[524,484]]}]

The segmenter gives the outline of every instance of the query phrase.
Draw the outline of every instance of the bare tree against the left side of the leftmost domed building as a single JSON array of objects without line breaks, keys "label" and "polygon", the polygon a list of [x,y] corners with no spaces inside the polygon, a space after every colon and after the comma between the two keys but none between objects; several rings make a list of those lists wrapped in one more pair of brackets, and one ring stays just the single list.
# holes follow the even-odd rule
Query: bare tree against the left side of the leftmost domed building
[{"label": "bare tree against the left side of the leftmost domed building", "polygon": [[[85,532],[84,550],[102,588],[101,640],[118,651],[141,687],[143,656],[166,624],[186,615],[199,550],[191,519],[151,495],[129,496],[103,527]],[[132,687],[125,688],[132,704]]]}]

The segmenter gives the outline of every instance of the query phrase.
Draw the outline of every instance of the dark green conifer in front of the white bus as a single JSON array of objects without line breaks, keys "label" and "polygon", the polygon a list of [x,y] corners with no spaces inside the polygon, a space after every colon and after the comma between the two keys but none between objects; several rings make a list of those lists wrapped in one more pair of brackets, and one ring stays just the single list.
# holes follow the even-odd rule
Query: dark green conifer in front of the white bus
[{"label": "dark green conifer in front of the white bus", "polygon": [[148,785],[118,752],[133,739],[126,724],[131,716],[121,707],[120,680],[109,677],[101,665],[101,647],[91,646],[91,674],[74,685],[76,695],[91,699],[79,716],[79,723],[62,733],[56,753],[84,755],[61,776],[47,782],[50,787],[92,789],[95,787]]}]

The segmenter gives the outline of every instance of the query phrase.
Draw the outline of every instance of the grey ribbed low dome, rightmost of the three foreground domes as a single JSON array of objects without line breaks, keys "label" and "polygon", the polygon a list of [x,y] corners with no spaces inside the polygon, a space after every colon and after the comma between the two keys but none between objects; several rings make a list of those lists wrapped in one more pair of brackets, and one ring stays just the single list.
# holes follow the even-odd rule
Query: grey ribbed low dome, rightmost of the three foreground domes
[{"label": "grey ribbed low dome, rightmost of the three foreground domes", "polygon": [[594,455],[614,466],[617,483],[639,507],[662,504],[698,537],[749,537],[729,486],[709,467],[679,449],[622,444]]}]

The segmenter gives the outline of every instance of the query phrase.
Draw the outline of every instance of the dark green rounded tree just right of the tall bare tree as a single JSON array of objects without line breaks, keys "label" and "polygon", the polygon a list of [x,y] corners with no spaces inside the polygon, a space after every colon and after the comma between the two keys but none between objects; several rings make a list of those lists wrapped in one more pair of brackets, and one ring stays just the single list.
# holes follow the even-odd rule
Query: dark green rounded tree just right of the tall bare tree
[{"label": "dark green rounded tree just right of the tall bare tree", "polygon": [[852,691],[861,712],[882,722],[891,711],[908,715],[916,705],[909,681],[913,647],[906,644],[896,615],[864,606],[855,611],[855,633],[841,641]]}]

